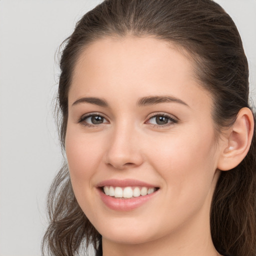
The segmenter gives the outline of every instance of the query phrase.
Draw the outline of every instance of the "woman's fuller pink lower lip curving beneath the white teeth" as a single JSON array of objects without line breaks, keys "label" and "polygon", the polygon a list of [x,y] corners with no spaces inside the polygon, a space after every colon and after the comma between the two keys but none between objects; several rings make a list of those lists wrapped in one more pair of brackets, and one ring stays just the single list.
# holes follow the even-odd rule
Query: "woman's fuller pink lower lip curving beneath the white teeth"
[{"label": "woman's fuller pink lower lip curving beneath the white teeth", "polygon": [[141,195],[133,198],[121,199],[106,195],[100,188],[98,189],[101,200],[104,204],[112,209],[119,211],[128,211],[140,207],[142,204],[150,200],[158,190],[153,193]]}]

